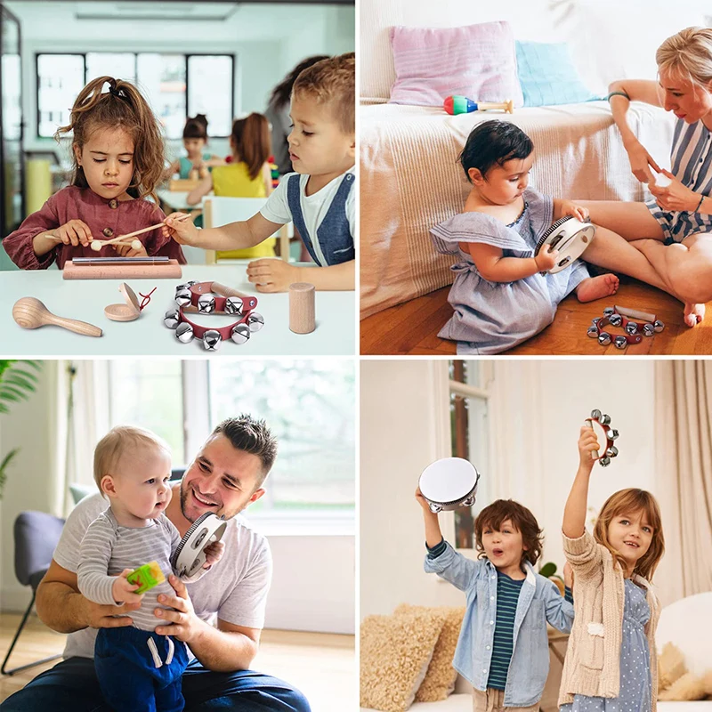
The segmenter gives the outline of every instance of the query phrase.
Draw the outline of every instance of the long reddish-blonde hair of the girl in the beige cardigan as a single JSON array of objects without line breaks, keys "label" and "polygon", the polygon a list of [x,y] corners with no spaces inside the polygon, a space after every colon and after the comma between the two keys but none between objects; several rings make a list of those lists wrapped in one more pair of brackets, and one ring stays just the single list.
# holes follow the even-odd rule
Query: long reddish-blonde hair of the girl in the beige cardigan
[{"label": "long reddish-blonde hair of the girl in the beige cardigan", "polygon": [[608,526],[620,514],[635,514],[636,512],[643,512],[651,525],[652,539],[648,551],[635,562],[633,573],[652,581],[652,575],[658,567],[662,554],[665,553],[665,538],[662,533],[662,520],[658,501],[650,492],[636,490],[635,488],[614,492],[601,508],[601,514],[598,515],[598,519],[595,522],[594,538],[611,552],[613,558],[619,562],[621,569],[625,569],[626,562],[620,553],[611,546],[611,542],[608,539]]}]

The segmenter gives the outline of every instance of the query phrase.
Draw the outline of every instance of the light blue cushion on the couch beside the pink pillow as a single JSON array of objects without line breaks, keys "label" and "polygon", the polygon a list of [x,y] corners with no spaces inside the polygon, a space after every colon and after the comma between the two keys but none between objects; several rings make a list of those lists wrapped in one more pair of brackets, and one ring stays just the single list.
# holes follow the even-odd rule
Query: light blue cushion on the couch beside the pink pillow
[{"label": "light blue cushion on the couch beside the pink pillow", "polygon": [[595,101],[578,77],[566,43],[517,42],[517,74],[524,106],[553,106]]}]

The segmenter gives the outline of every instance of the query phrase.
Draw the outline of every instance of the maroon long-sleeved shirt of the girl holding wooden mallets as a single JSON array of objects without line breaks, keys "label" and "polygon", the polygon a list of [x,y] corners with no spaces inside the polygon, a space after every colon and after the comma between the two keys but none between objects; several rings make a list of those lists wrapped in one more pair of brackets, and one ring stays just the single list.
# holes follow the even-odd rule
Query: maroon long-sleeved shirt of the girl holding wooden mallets
[{"label": "maroon long-sleeved shirt of the girl holding wooden mallets", "polygon": [[[55,260],[62,269],[64,263],[74,257],[116,257],[117,251],[109,246],[94,252],[88,246],[74,247],[59,242],[46,255],[38,257],[32,241],[40,232],[55,230],[70,220],[81,220],[89,227],[94,240],[104,240],[161,223],[165,218],[166,214],[148,200],[107,200],[89,188],[70,185],[56,192],[37,213],[29,215],[3,240],[3,247],[12,262],[22,270],[46,270]],[[142,241],[148,255],[172,257],[185,264],[181,246],[173,239],[163,237],[160,228],[144,232],[136,239]]]}]

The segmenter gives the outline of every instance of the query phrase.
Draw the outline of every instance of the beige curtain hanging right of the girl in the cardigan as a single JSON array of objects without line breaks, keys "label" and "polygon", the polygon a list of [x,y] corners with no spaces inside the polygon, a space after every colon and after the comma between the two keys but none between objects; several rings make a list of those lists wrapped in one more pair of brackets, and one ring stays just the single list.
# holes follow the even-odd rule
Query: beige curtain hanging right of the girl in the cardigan
[{"label": "beige curtain hanging right of the girl in the cardigan", "polygon": [[712,361],[657,361],[657,491],[666,553],[662,603],[712,590]]}]

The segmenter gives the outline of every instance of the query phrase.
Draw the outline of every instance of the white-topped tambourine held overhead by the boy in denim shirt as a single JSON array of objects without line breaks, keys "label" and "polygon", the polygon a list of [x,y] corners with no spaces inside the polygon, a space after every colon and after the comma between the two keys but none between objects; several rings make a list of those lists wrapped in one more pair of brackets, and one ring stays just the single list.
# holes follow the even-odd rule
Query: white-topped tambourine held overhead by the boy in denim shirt
[{"label": "white-topped tambourine held overhead by the boy in denim shirt", "polygon": [[462,457],[444,457],[428,465],[420,475],[418,486],[433,514],[461,506],[473,506],[480,473]]}]

